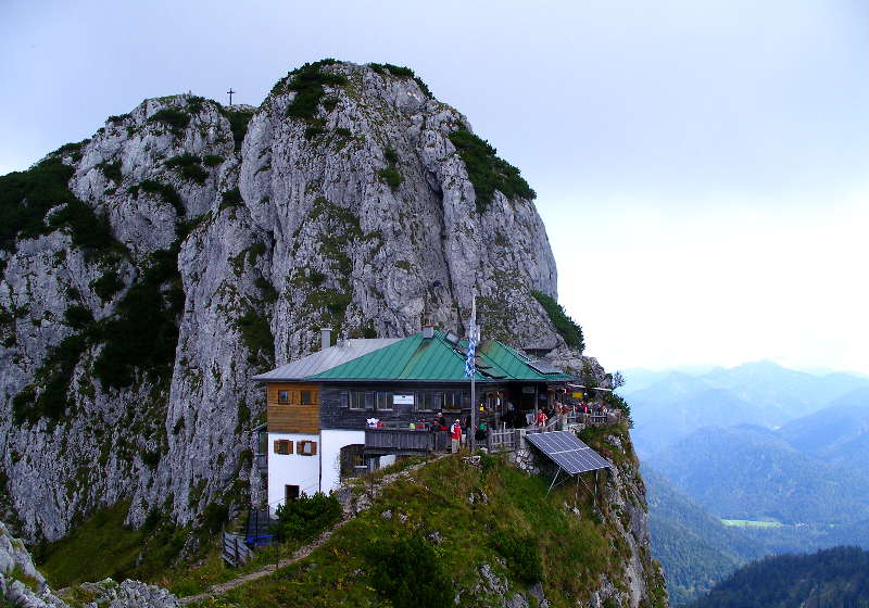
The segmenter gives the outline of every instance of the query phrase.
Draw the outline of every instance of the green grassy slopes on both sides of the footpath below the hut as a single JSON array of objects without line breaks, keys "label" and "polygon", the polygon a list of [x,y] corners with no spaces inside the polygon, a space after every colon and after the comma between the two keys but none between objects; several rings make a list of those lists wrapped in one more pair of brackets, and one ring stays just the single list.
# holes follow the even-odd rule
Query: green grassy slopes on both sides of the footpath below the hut
[{"label": "green grassy slopes on both sides of the footpath below the hut", "polygon": [[[613,432],[625,449],[607,443]],[[622,469],[622,476],[634,469],[626,429],[590,430],[583,433],[583,440],[613,459]],[[402,463],[396,468],[412,463]],[[587,477],[585,482],[591,485],[593,478]],[[516,565],[499,555],[493,546],[492,533],[499,530],[539,547],[543,588],[553,607],[572,606],[578,599],[587,599],[590,591],[600,585],[602,573],[620,588],[627,588],[622,561],[629,552],[615,527],[616,518],[624,514],[615,509],[610,512],[607,505],[602,511],[593,509],[590,494],[581,484],[578,489],[575,484],[561,486],[546,496],[549,481],[545,477],[522,473],[496,458],[490,459],[487,470],[468,466],[456,457],[442,458],[385,487],[371,509],[348,523],[308,558],[206,604],[231,603],[257,608],[341,603],[385,605],[374,591],[367,548],[378,540],[407,537],[415,532],[439,533],[442,539],[436,546],[439,561],[456,582],[456,588],[469,590],[478,584],[478,568],[488,563],[496,574],[509,580],[513,588],[527,590],[527,582],[517,575]],[[574,506],[579,517],[574,514]],[[382,517],[387,510],[393,514],[391,519]],[[244,569],[229,569],[214,543],[193,563],[179,565],[175,556],[189,530],[176,530],[165,523],[149,530],[130,530],[123,525],[126,512],[126,504],[115,505],[43,549],[40,568],[55,588],[105,577],[137,578],[179,595],[193,595],[275,558],[274,548],[268,548]],[[400,515],[406,516],[406,521]],[[286,557],[298,546],[297,542],[282,546],[280,556]],[[645,554],[643,557],[646,578],[653,580],[651,562]],[[467,593],[463,595],[463,605],[486,604],[484,593],[477,593],[476,599]],[[663,588],[655,604],[664,606]]]}]

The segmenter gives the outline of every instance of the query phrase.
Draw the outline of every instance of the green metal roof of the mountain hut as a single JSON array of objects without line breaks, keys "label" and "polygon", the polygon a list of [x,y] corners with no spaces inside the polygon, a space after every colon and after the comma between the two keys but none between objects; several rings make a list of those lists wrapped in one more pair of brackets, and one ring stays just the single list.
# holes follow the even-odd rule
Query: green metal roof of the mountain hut
[{"label": "green metal roof of the mountain hut", "polygon": [[[467,380],[465,354],[461,351],[467,349],[467,340],[462,340],[457,345],[461,346],[459,350],[448,342],[446,335],[441,331],[436,331],[434,337],[429,339],[423,338],[421,332],[415,333],[367,355],[308,376],[307,379],[464,381]],[[572,379],[562,372],[543,373],[531,367],[532,363],[512,347],[496,340],[487,340],[477,349],[475,379],[480,382],[558,382]]]}]

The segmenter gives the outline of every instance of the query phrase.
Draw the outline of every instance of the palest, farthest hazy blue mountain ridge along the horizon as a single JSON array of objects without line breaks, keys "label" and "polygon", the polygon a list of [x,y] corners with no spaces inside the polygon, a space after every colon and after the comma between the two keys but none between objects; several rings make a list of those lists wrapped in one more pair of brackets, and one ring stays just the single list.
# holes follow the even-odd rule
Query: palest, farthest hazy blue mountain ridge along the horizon
[{"label": "palest, farthest hazy blue mountain ridge along the horizon", "polygon": [[864,376],[817,376],[767,360],[698,369],[625,370],[627,382],[620,392],[631,403],[633,440],[642,457],[701,427],[777,428],[841,400],[859,401],[862,391],[869,391],[869,378]]}]

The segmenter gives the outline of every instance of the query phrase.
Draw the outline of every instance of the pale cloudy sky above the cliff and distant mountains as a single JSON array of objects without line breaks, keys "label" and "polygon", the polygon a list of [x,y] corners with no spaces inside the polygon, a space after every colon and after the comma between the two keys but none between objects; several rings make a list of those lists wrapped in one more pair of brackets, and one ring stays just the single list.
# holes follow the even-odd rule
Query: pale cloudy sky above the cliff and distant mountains
[{"label": "pale cloudy sky above the cliff and distant mountains", "polygon": [[869,4],[0,1],[0,174],[142,99],[414,68],[518,166],[608,368],[869,372]]}]

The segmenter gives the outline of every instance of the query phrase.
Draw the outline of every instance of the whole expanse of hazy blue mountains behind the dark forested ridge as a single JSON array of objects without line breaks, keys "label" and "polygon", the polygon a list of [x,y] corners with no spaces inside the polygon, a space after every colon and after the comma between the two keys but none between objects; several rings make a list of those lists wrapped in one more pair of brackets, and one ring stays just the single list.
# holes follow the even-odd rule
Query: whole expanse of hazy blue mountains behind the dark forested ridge
[{"label": "whole expanse of hazy blue mountains behind the dark forested ridge", "polygon": [[673,606],[764,555],[869,547],[869,379],[769,362],[625,376]]}]

